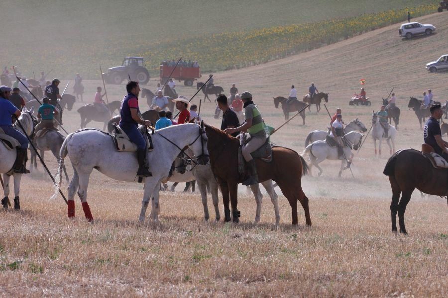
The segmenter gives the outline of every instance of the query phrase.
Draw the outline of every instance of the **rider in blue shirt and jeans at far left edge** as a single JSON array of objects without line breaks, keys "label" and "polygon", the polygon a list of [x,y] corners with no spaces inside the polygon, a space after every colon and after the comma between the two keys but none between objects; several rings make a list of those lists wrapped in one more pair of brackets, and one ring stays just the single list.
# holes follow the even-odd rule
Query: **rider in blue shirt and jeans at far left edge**
[{"label": "rider in blue shirt and jeans at far left edge", "polygon": [[18,118],[20,111],[8,100],[11,90],[8,86],[0,86],[0,128],[6,135],[13,137],[20,143],[12,169],[16,173],[27,174],[29,171],[25,168],[24,161],[27,159],[26,153],[29,142],[21,132],[12,126],[12,115]]}]

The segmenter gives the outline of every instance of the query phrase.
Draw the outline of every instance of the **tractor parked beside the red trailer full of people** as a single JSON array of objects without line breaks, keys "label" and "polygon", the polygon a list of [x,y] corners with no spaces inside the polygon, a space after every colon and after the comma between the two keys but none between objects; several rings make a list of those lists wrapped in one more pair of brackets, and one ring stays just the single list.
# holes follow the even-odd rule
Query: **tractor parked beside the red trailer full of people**
[{"label": "tractor parked beside the red trailer full of people", "polygon": [[149,81],[149,72],[142,57],[126,57],[121,66],[112,67],[108,69],[108,73],[103,74],[104,79],[111,84],[120,84],[129,76],[140,84],[146,84]]}]

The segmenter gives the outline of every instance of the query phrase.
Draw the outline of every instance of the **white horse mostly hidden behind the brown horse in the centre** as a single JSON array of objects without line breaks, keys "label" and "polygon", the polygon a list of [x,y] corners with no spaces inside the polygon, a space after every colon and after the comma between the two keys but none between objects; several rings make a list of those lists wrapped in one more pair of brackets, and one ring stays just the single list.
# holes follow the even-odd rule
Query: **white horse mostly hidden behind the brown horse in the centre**
[{"label": "white horse mostly hidden behind the brown horse in the centre", "polygon": [[[187,150],[188,154],[193,155],[191,150]],[[180,158],[176,159],[175,167],[180,168]],[[183,160],[181,160],[183,162]],[[190,182],[192,181],[191,175],[193,174],[194,178],[196,178],[196,182],[198,183],[199,191],[201,192],[202,205],[204,207],[204,219],[208,221],[210,219],[209,209],[207,206],[207,189],[210,190],[212,194],[212,202],[215,207],[215,220],[219,222],[221,219],[220,209],[218,207],[219,198],[218,198],[218,182],[215,178],[215,174],[213,174],[212,167],[210,164],[206,165],[193,165],[192,168],[189,168],[187,165],[187,171],[181,170],[181,173],[173,174],[172,177],[176,177],[175,179],[169,179],[169,181],[175,182]],[[189,171],[191,170],[191,171]],[[183,181],[179,181],[183,178]],[[274,186],[272,180],[266,180],[261,182],[263,187],[266,189],[266,192],[269,194],[271,198],[272,204],[274,205],[274,213],[275,213],[275,224],[280,222],[280,212],[278,210],[278,196],[274,190]],[[208,188],[207,188],[208,187]],[[253,184],[250,186],[250,189],[255,197],[255,202],[257,204],[256,213],[255,213],[255,223],[260,221],[261,216],[261,205],[263,200],[263,194],[260,190],[259,184]]]}]

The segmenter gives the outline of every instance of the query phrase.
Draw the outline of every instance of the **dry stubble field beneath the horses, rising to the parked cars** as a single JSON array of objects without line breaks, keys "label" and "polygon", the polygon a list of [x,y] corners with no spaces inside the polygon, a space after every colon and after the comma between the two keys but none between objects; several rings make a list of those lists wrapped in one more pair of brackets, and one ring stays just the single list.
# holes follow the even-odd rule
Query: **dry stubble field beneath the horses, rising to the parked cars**
[{"label": "dry stubble field beneath the horses, rising to the parked cars", "polygon": [[[266,122],[275,127],[283,122],[283,116],[273,108],[271,98],[286,95],[291,82],[303,90],[310,78],[315,80],[320,89],[330,92],[332,111],[341,106],[345,120],[359,117],[366,125],[371,109],[378,109],[381,96],[387,95],[384,87],[396,85],[402,109],[396,147],[418,148],[421,131],[415,115],[406,108],[406,99],[433,87],[437,99],[443,100],[448,90],[446,74],[426,74],[420,65],[421,60],[439,57],[435,52],[445,49],[447,31],[442,24],[447,27],[447,15],[422,21],[434,21],[441,31],[431,39],[402,41],[396,36],[397,26],[392,26],[276,63],[216,74],[216,82],[226,88],[236,82],[240,90],[250,90]],[[431,42],[434,53],[422,51],[422,41]],[[410,48],[412,53],[420,53],[417,62],[406,60]],[[330,71],[319,71],[322,69]],[[359,88],[360,77],[367,78],[373,107],[348,107],[351,90]],[[93,98],[99,83],[86,81],[85,100],[89,94]],[[152,89],[153,85],[151,82]],[[108,86],[109,99],[119,99],[123,90],[122,85]],[[178,92],[187,96],[194,91],[178,87]],[[194,102],[199,104],[199,98]],[[80,105],[76,103],[74,111],[64,114],[69,131],[78,128],[75,110]],[[214,104],[202,104],[201,115],[218,125],[213,111]],[[299,125],[301,121],[292,121],[272,140],[301,151],[308,132],[328,124],[323,112],[316,114],[313,107],[312,113],[307,112],[305,127]],[[92,126],[102,127],[98,123]],[[323,177],[303,179],[310,197],[312,228],[304,226],[301,209],[299,226],[290,225],[290,207],[282,196],[280,226],[272,224],[273,208],[266,196],[261,224],[251,224],[255,204],[243,192],[238,205],[241,223],[237,225],[204,223],[199,195],[181,193],[162,194],[159,224],[138,225],[142,186],[116,182],[98,172],[92,174],[88,195],[96,222],[85,222],[78,199],[77,217],[69,220],[62,199],[48,201],[51,183],[39,167],[39,172],[23,177],[22,211],[0,213],[0,293],[8,297],[446,297],[446,200],[422,199],[415,192],[406,212],[409,235],[395,236],[390,232],[390,186],[381,173],[387,154],[373,156],[370,138],[364,146],[354,159],[355,179],[347,171],[338,179],[339,163],[334,161],[322,163]],[[48,153],[46,160],[50,169],[56,169]],[[71,175],[71,169],[69,172]],[[66,186],[64,182],[63,189]],[[213,217],[210,207],[209,202]],[[220,209],[223,212],[222,203]]]}]

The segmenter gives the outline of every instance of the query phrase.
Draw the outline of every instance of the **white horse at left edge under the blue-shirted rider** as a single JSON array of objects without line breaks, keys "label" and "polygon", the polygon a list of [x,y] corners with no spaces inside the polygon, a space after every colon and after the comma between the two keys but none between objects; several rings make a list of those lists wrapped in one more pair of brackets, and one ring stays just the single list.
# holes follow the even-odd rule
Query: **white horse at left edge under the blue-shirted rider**
[{"label": "white horse at left edge under the blue-shirted rider", "polygon": [[[18,120],[20,124],[23,126],[25,132],[22,131],[20,126],[17,125],[17,129],[28,136],[33,133],[34,130],[34,121],[33,121],[33,112],[34,108],[31,110],[27,110],[26,107],[23,108],[22,113],[20,114]],[[16,149],[9,150],[5,147],[5,145],[0,142],[0,173],[3,173],[3,194],[4,198],[1,201],[3,207],[7,207],[7,202],[9,201],[9,178],[12,175],[14,177],[14,209],[20,209],[20,179],[22,178],[22,174],[19,173],[11,173],[12,166],[14,165],[15,158],[17,156]]]}]

